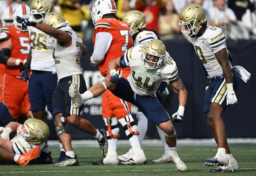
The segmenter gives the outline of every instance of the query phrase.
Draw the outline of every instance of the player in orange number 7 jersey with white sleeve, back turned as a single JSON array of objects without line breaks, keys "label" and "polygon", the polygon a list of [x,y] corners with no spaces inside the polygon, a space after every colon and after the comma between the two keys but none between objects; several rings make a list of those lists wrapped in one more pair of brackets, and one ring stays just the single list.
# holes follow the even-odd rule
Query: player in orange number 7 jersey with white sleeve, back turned
[{"label": "player in orange number 7 jersey with white sleeve, back turned", "polygon": [[[133,45],[128,23],[116,20],[116,4],[113,0],[96,0],[91,17],[95,25],[93,32],[93,54],[90,61],[99,66],[104,77],[111,76],[108,63],[122,56]],[[130,68],[117,70],[121,77],[131,74]],[[102,82],[104,85],[104,82]],[[142,165],[146,162],[144,151],[140,147],[137,124],[131,116],[131,104],[107,90],[102,94],[102,117],[107,126],[108,153],[103,160],[93,161],[93,165]],[[117,158],[116,143],[119,137],[118,122],[122,125],[132,148],[132,157],[127,162]]]}]

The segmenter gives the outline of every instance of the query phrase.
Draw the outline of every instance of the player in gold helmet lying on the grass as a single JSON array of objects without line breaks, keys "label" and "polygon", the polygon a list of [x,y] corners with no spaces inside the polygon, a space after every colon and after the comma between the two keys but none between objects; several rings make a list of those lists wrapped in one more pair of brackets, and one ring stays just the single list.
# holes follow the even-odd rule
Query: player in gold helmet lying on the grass
[{"label": "player in gold helmet lying on the grass", "polygon": [[[35,155],[33,158],[35,159],[35,157],[38,156],[40,150],[42,150],[44,147],[44,144],[49,137],[50,131],[48,125],[43,121],[30,118],[24,122],[24,125],[18,122],[10,122],[5,127],[0,127],[0,133],[1,148],[9,150],[10,152],[17,155],[23,155],[24,153],[27,153],[35,148],[32,150],[32,153],[37,153],[37,155]],[[12,139],[10,139],[11,133],[16,133]],[[6,162],[4,160],[0,160],[0,163],[13,164],[13,161]]]}]

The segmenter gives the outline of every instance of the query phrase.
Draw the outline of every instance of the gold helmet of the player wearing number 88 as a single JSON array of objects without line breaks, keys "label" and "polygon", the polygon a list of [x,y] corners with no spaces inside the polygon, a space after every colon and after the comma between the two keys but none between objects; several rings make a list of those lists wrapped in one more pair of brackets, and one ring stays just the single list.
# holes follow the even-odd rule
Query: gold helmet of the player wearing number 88
[{"label": "gold helmet of the player wearing number 88", "polygon": [[36,23],[41,22],[45,15],[52,11],[54,11],[52,0],[32,0],[30,3],[30,13]]}]

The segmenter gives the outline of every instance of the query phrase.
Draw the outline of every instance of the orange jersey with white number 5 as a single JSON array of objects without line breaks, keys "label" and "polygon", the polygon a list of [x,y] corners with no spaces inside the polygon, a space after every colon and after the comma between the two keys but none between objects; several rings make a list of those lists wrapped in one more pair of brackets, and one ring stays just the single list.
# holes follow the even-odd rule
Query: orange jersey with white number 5
[{"label": "orange jersey with white number 5", "polygon": [[[0,32],[6,32],[12,41],[12,48],[10,48],[11,57],[26,60],[30,51],[29,33],[20,31],[14,26],[5,26],[4,28],[0,28]],[[20,68],[22,68],[22,65],[6,65],[5,73],[15,77],[20,77]]]}]

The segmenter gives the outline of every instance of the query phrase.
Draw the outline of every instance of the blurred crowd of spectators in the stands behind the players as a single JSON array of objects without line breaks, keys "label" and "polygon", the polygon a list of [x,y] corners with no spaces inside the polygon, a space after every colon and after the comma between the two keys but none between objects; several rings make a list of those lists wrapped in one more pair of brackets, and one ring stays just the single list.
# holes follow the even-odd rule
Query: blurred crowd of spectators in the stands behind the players
[{"label": "blurred crowd of spectators in the stands behind the players", "polygon": [[[7,6],[20,3],[29,4],[30,0],[2,0],[0,14]],[[92,40],[93,23],[90,10],[94,0],[54,0],[55,11],[64,17],[86,40]],[[256,40],[256,0],[116,0],[117,17],[122,19],[129,10],[139,10],[145,14],[146,28],[157,31],[161,39],[182,39],[179,14],[190,3],[203,6],[207,23],[218,26],[228,39]]]}]

